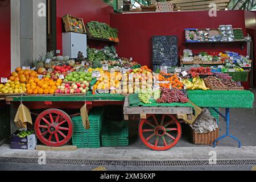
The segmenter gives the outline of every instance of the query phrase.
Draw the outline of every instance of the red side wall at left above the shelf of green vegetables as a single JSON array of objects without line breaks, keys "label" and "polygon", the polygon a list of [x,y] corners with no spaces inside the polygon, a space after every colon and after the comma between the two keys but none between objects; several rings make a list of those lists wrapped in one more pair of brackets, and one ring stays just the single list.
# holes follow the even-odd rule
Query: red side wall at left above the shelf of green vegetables
[{"label": "red side wall at left above the shelf of green vegetables", "polygon": [[[70,14],[77,18],[82,18],[84,23],[96,20],[110,24],[110,14],[113,14],[113,7],[110,7],[101,0],[56,0],[56,36],[57,49],[62,51],[62,17]],[[97,42],[90,44],[93,47],[101,47]]]}]

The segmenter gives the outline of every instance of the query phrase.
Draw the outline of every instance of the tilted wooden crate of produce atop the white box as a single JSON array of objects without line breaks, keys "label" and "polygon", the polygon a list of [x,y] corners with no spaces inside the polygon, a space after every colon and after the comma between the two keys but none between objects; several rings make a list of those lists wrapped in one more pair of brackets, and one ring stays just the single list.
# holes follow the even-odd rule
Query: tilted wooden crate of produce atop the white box
[{"label": "tilted wooden crate of produce atop the white box", "polygon": [[[85,26],[84,26],[84,20],[82,18],[75,18],[74,16],[71,15],[65,15],[63,16],[63,23],[65,27],[66,32],[76,32],[80,34],[86,34]],[[77,22],[71,22],[73,19],[76,19],[77,22],[81,22],[81,26],[79,28],[76,28]]]}]

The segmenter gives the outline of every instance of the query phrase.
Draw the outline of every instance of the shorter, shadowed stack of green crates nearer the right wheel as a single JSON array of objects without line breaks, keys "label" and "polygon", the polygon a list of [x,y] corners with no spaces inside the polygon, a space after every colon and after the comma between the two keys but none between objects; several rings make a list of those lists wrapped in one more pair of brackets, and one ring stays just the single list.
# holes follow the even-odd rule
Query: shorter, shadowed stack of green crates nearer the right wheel
[{"label": "shorter, shadowed stack of green crates nearer the right wheel", "polygon": [[106,122],[101,134],[102,146],[128,146],[128,135],[127,121]]}]

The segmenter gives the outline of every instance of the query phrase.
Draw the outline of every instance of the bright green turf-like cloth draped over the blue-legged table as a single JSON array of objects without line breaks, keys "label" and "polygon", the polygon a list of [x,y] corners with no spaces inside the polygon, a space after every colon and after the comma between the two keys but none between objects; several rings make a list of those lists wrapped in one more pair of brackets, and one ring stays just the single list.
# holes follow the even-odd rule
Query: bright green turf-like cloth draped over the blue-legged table
[{"label": "bright green turf-like cloth draped over the blue-legged table", "polygon": [[254,94],[248,90],[191,90],[188,98],[199,107],[253,108]]}]

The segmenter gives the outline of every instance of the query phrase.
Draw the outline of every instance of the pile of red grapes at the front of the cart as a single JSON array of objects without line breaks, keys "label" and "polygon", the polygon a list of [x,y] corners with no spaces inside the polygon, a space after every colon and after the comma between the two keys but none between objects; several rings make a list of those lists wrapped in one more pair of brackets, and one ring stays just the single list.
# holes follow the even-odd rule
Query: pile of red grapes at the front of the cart
[{"label": "pile of red grapes at the front of the cart", "polygon": [[156,100],[158,103],[172,103],[172,102],[181,102],[187,103],[188,98],[185,96],[183,92],[178,89],[161,89],[161,97]]}]

